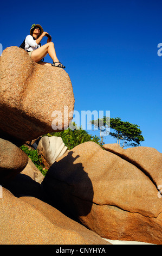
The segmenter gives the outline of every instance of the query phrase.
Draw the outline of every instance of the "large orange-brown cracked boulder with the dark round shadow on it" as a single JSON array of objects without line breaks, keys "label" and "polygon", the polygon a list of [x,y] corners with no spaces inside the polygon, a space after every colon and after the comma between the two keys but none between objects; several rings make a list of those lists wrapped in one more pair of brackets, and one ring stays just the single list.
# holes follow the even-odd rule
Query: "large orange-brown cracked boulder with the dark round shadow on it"
[{"label": "large orange-brown cracked boulder with the dark round shadow on it", "polygon": [[[136,150],[130,150],[132,155],[134,151],[135,156]],[[150,163],[156,158],[159,159],[156,166],[161,165],[158,152],[149,157]],[[140,157],[135,161],[140,162]],[[158,182],[159,172],[160,169]],[[153,179],[151,168],[149,173],[148,176],[140,166],[103,150],[96,143],[86,142],[57,159],[42,186],[53,204],[64,212],[70,211],[102,237],[160,244],[162,198],[158,197],[153,182],[154,170]]]}]

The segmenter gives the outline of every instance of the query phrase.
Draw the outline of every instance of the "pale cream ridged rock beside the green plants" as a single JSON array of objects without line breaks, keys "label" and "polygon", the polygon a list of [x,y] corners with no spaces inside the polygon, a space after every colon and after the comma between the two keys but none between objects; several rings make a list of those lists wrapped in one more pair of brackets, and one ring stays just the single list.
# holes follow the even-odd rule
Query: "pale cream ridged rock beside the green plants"
[{"label": "pale cream ridged rock beside the green plants", "polygon": [[48,137],[44,136],[38,143],[37,152],[38,155],[44,160],[44,164],[47,169],[64,153],[66,153],[67,147],[64,145],[61,137]]}]

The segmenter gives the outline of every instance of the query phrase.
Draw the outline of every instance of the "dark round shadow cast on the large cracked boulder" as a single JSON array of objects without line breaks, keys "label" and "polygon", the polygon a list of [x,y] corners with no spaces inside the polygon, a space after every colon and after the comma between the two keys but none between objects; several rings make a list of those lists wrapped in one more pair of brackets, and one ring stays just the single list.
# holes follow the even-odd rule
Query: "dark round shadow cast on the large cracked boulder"
[{"label": "dark round shadow cast on the large cracked boulder", "polygon": [[78,220],[79,216],[86,216],[91,211],[94,192],[88,173],[77,160],[79,155],[75,153],[74,157],[73,154],[69,151],[61,160],[54,162],[41,185],[49,204]]}]

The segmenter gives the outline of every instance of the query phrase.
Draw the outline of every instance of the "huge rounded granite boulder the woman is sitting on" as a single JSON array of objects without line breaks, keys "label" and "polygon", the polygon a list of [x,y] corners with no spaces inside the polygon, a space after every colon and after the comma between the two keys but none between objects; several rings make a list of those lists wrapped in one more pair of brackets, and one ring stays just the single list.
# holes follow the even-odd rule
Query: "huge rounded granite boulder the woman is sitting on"
[{"label": "huge rounded granite boulder the woman is sitting on", "polygon": [[[74,95],[66,71],[39,65],[23,49],[11,46],[0,57],[0,79],[0,130],[4,137],[31,141],[56,131],[51,127],[56,119],[57,131],[68,127]],[[54,111],[59,112],[58,117]]]}]

